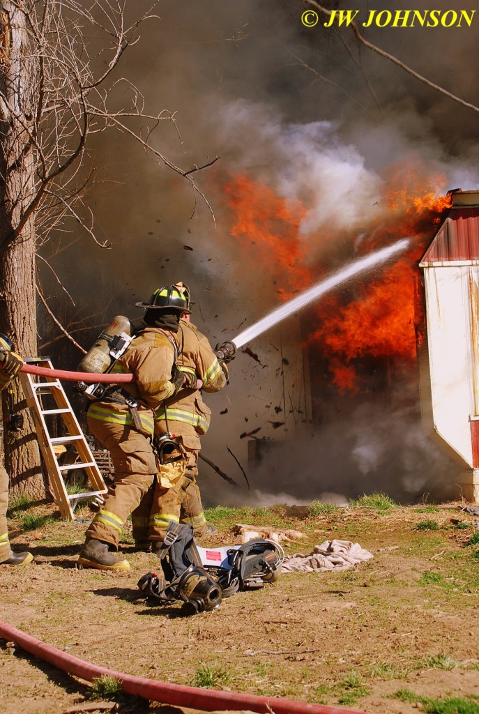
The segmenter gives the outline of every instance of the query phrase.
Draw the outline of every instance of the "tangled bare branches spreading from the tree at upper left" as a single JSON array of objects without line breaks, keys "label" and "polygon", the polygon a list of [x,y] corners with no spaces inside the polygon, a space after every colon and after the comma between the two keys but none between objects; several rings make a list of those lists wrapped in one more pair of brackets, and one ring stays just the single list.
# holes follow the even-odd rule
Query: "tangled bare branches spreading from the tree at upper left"
[{"label": "tangled bare branches spreading from the tree at upper left", "polygon": [[[138,41],[141,25],[158,19],[154,14],[158,4],[159,0],[152,0],[146,11],[127,23],[125,0],[11,2],[25,20],[26,41],[22,51],[30,75],[20,103],[12,104],[6,91],[0,90],[0,114],[14,123],[9,145],[4,146],[6,166],[21,168],[33,153],[35,171],[33,183],[31,174],[24,172],[21,183],[16,181],[9,186],[9,191],[12,186],[15,190],[8,196],[9,209],[19,213],[14,230],[7,236],[9,241],[21,234],[31,218],[41,216],[44,242],[49,229],[59,228],[61,221],[71,216],[99,246],[108,246],[95,235],[91,216],[87,219],[81,213],[86,206],[76,193],[88,183],[81,176],[89,136],[106,129],[128,134],[148,156],[186,178],[193,188],[193,213],[196,195],[201,196],[214,221],[211,205],[191,174],[211,166],[219,157],[189,169],[174,164],[152,141],[159,124],[168,121],[183,148],[174,114],[166,109],[159,114],[148,113],[145,98],[136,86],[125,77],[113,79],[124,52]],[[88,26],[93,39],[89,37]],[[109,82],[110,79],[113,81]],[[118,104],[121,83],[127,83],[131,90],[129,106],[112,109]],[[25,111],[26,106],[31,111]],[[6,176],[2,178],[6,180]]]}]

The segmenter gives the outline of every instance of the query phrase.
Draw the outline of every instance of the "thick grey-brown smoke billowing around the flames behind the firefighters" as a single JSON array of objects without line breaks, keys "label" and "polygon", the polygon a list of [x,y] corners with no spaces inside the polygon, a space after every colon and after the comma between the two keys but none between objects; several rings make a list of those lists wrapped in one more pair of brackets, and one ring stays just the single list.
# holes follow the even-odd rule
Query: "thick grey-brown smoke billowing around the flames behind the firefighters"
[{"label": "thick grey-brown smoke billowing around the flames behind the firefighters", "polygon": [[[365,3],[356,7],[367,16]],[[299,268],[318,269],[320,277],[355,257],[360,243],[388,225],[385,186],[403,188],[404,172],[411,183],[430,181],[438,192],[478,188],[475,112],[365,48],[359,51],[347,29],[340,36],[335,29],[305,28],[304,8],[296,0],[280,6],[272,0],[161,4],[161,18],[126,53],[123,71],[143,91],[151,113],[176,113],[181,141],[167,123],[155,139],[164,154],[185,169],[221,156],[197,174],[214,219],[186,181],[125,137],[104,137],[91,156],[98,178],[110,183],[99,181],[89,201],[111,250],[85,251],[82,238],[76,243],[81,251],[52,258],[60,275],[75,261],[68,285],[79,308],[88,305],[100,322],[117,313],[135,318],[141,315],[135,301],[181,279],[197,303],[194,321],[214,345],[276,307],[280,288],[297,290]],[[479,28],[479,18],[474,22]],[[365,36],[479,103],[475,24],[371,28]],[[238,175],[271,188],[291,214],[303,206],[300,254],[291,266],[271,264],[273,258],[231,236],[236,216],[224,186]],[[284,230],[278,223],[279,243],[286,242]],[[301,341],[314,330],[312,320],[310,313],[301,325],[291,318],[259,337],[251,353],[232,363],[228,388],[207,397],[213,421],[203,453],[243,488],[218,485],[219,477],[201,464],[206,502],[299,503],[326,491],[347,498],[382,490],[403,501],[426,491],[448,496],[451,464],[421,430],[415,363],[396,370],[387,388],[378,388],[383,366],[373,364],[368,390],[353,398],[336,393],[321,356],[310,351],[316,416],[308,413]],[[258,428],[253,437],[243,436]],[[261,443],[248,463],[251,440]]]}]

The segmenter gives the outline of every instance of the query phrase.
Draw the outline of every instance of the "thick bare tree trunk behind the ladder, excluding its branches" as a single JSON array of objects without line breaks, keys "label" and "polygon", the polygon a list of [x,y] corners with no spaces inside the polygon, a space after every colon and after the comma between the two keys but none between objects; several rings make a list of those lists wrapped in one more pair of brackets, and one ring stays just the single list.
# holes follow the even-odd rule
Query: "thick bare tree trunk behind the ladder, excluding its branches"
[{"label": "thick bare tree trunk behind the ladder, excluding its branches", "polygon": [[[0,3],[0,331],[10,336],[23,356],[36,355],[35,226],[24,209],[34,191],[34,158],[28,128],[34,81],[32,58],[26,57],[24,14]],[[29,89],[26,89],[29,88]],[[6,469],[14,491],[45,495],[39,447],[19,379],[2,393],[4,418],[24,417],[21,431],[4,431]]]}]

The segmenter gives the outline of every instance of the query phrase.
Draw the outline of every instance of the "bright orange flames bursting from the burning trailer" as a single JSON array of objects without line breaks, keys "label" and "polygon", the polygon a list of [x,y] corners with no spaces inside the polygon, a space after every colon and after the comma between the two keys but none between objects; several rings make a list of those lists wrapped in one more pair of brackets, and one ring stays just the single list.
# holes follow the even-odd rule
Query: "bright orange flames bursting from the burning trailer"
[{"label": "bright orange flames bursting from the burning trailer", "polygon": [[[319,301],[316,328],[308,337],[308,344],[323,353],[333,383],[344,393],[358,391],[361,359],[415,358],[415,266],[433,236],[435,221],[450,206],[450,197],[438,196],[435,188],[443,183],[440,177],[423,182],[413,171],[401,167],[391,172],[391,181],[393,190],[385,189],[380,201],[388,206],[387,226],[370,226],[361,245],[364,252],[370,252],[408,236],[412,238],[408,255],[398,258],[393,266],[381,266],[374,282],[370,276],[357,281],[348,303],[346,291]],[[305,241],[299,236],[301,220],[307,213],[302,203],[288,202],[268,186],[244,175],[228,181],[224,193],[235,220],[231,236],[248,244],[262,268],[268,266],[272,278],[281,276],[283,298],[318,280],[321,271],[306,265]],[[344,235],[337,238],[336,244],[343,246]],[[319,240],[319,236],[308,236],[308,245]],[[351,236],[351,246],[355,240],[356,236]],[[343,261],[350,260],[351,253]],[[351,288],[347,292],[351,295]]]}]

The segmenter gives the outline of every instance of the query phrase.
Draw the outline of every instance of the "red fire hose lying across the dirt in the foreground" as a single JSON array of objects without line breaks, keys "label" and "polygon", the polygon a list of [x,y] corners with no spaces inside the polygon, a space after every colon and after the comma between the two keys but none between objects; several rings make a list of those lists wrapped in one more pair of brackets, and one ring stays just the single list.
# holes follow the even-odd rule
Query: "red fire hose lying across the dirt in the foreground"
[{"label": "red fire hose lying across the dirt in the foreground", "polygon": [[14,642],[21,648],[44,662],[49,662],[67,674],[91,682],[108,675],[119,680],[121,689],[127,694],[137,695],[146,700],[161,702],[171,706],[183,706],[201,711],[214,710],[250,710],[259,714],[364,714],[358,710],[330,707],[321,704],[308,704],[279,697],[264,697],[253,694],[238,694],[211,689],[187,687],[156,680],[136,677],[115,670],[92,665],[73,655],[57,650],[11,625],[0,622],[0,637],[7,642]]}]

